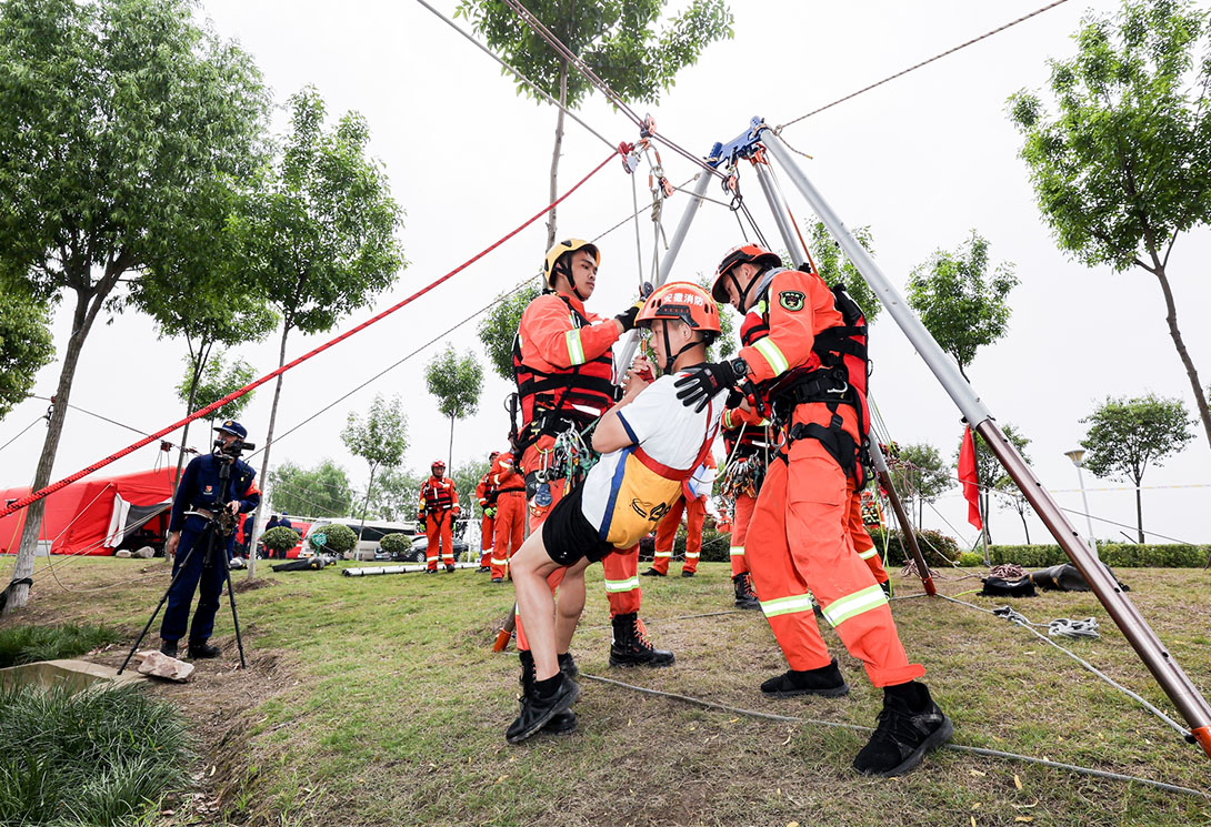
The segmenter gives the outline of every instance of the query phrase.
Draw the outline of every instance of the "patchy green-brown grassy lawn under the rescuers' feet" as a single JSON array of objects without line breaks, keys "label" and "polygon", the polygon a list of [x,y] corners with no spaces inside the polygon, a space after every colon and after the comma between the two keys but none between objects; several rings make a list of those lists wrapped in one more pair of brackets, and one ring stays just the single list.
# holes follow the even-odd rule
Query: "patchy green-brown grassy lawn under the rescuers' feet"
[{"label": "patchy green-brown grassy lawn under the rescuers' feet", "polygon": [[[589,677],[575,734],[511,747],[504,729],[517,711],[517,659],[490,651],[511,609],[509,586],[470,570],[378,578],[264,570],[265,585],[237,593],[252,668],[233,668],[224,604],[216,637],[224,657],[201,662],[194,684],[154,689],[177,697],[194,720],[203,806],[233,823],[1211,825],[1206,798],[953,751],[934,753],[903,779],[862,779],[849,766],[862,733],[705,710]],[[1118,574],[1195,685],[1211,693],[1211,573]],[[7,622],[104,622],[128,647],[168,582],[160,561],[84,559],[58,575],[63,587],[35,572],[30,605]],[[954,578],[941,573],[940,591],[978,586]],[[785,664],[759,613],[687,618],[731,608],[725,564],[704,564],[693,580],[645,579],[642,614],[677,664],[612,670],[599,580],[601,568],[591,568],[573,643],[586,676],[874,725],[880,693],[831,630],[825,638],[850,696],[773,700],[757,685]],[[893,580],[900,595],[919,591],[919,582]],[[114,586],[84,591],[107,584]],[[1046,593],[1014,608],[1041,622],[1097,619],[1100,639],[1063,645],[1180,720],[1092,595]],[[925,665],[930,689],[954,719],[955,742],[1211,789],[1201,750],[1025,630],[924,598],[897,601],[894,613],[909,656]],[[97,659],[116,662],[122,654]],[[183,800],[165,821],[219,819],[200,819],[191,806]]]}]

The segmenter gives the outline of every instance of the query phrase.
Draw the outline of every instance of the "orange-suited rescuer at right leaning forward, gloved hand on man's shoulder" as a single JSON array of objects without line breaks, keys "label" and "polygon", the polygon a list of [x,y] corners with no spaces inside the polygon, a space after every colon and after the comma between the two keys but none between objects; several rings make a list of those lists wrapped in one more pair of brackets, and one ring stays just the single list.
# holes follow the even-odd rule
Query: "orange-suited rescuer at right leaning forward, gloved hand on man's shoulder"
[{"label": "orange-suited rescuer at right leaning forward, gloved hand on man's shoulder", "polygon": [[837,696],[849,687],[813,616],[809,590],[851,655],[884,691],[883,711],[854,768],[894,776],[949,740],[951,720],[908,661],[886,596],[846,530],[849,477],[860,478],[865,444],[866,321],[844,289],[816,272],[781,266],[757,245],[730,251],[712,294],[745,314],[736,358],[678,380],[684,404],[705,406],[739,386],[786,429],[748,526],[746,557],[762,610],[790,671],[762,684],[769,695]]}]

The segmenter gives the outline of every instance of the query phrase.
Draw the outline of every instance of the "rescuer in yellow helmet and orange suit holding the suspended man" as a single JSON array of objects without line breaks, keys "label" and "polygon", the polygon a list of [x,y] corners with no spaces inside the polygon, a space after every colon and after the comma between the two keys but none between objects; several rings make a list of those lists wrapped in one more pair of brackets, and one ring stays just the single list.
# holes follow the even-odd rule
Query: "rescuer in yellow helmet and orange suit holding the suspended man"
[{"label": "rescuer in yellow helmet and orange suit holding the suspended man", "polygon": [[[544,262],[551,289],[530,301],[522,312],[513,340],[513,377],[522,413],[515,455],[521,456],[526,478],[530,532],[563,496],[568,473],[578,472],[573,463],[587,459],[587,453],[573,456],[557,450],[557,441],[561,436],[567,440],[573,431],[584,433],[614,404],[618,389],[612,346],[635,327],[643,306],[641,299],[614,318],[602,318],[585,310],[584,303],[597,285],[599,264],[601,252],[587,241],[569,239],[551,247]],[[610,555],[603,568],[614,625],[610,665],[672,664],[672,653],[654,649],[639,620],[638,546]],[[562,570],[552,574],[552,588],[562,576]],[[517,649],[526,673],[532,667],[527,667],[529,643],[521,622],[517,624]],[[569,672],[575,671],[569,653],[559,653],[559,662]]]}]

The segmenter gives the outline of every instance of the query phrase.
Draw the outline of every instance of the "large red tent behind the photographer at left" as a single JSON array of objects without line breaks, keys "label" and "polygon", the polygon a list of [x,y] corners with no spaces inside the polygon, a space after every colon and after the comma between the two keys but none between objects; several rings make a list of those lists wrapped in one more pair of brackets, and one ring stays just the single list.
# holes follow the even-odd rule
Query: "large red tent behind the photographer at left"
[{"label": "large red tent behind the photographer at left", "polygon": [[[52,555],[111,555],[119,546],[159,545],[168,529],[176,469],[85,477],[46,498],[39,536]],[[0,490],[0,502],[29,488]],[[28,509],[0,518],[0,553],[15,555]]]}]

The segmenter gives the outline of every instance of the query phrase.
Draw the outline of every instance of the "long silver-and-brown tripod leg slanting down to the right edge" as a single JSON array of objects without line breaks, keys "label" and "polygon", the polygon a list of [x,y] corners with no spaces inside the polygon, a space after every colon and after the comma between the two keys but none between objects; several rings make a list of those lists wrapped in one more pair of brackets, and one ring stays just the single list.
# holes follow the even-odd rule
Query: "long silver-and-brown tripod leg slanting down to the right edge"
[{"label": "long silver-and-brown tripod leg slanting down to the right edge", "polygon": [[757,130],[758,139],[765,145],[774,157],[777,159],[782,168],[790,176],[803,197],[815,211],[820,220],[825,223],[833,239],[840,245],[845,255],[854,263],[862,277],[874,291],[883,306],[888,309],[891,317],[896,320],[900,329],[908,337],[908,341],[920,354],[942,387],[951,396],[954,403],[971,423],[972,427],[985,438],[993,454],[1005,466],[1005,471],[1014,479],[1022,494],[1034,507],[1034,511],[1043,519],[1044,524],[1055,536],[1056,542],[1064,550],[1073,564],[1080,570],[1089,582],[1097,599],[1106,607],[1107,613],[1123,631],[1124,637],[1136,650],[1144,666],[1152,672],[1157,683],[1160,684],[1165,694],[1169,695],[1173,706],[1177,707],[1182,717],[1190,725],[1190,740],[1196,741],[1203,751],[1211,757],[1211,706],[1194,687],[1186,672],[1177,665],[1173,656],[1165,649],[1160,639],[1148,626],[1140,611],[1131,603],[1130,598],[1123,593],[1118,582],[1103,567],[1097,555],[1090,551],[1085,540],[1077,529],[1064,517],[1060,505],[1051,496],[1050,492],[1043,487],[1038,477],[1022,459],[1017,449],[1005,438],[1004,432],[993,421],[992,413],[983,404],[975,390],[959,373],[954,362],[939,346],[934,337],[930,335],[920,320],[908,309],[903,297],[891,285],[888,277],[879,269],[869,253],[857,243],[849,229],[840,220],[823,196],[808,180],[799,166],[796,163],[791,151],[782,143],[773,130],[762,127]]}]

